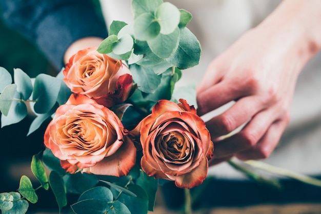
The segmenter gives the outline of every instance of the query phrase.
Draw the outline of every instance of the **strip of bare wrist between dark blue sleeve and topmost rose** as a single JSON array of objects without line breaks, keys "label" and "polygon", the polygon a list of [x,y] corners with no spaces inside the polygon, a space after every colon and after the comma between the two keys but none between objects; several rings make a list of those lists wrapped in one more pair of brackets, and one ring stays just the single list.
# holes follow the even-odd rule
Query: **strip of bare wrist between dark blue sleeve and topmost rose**
[{"label": "strip of bare wrist between dark blue sleeve and topmost rose", "polygon": [[68,63],[70,57],[77,51],[88,47],[98,47],[103,42],[101,37],[84,37],[73,42],[65,51],[64,62]]}]

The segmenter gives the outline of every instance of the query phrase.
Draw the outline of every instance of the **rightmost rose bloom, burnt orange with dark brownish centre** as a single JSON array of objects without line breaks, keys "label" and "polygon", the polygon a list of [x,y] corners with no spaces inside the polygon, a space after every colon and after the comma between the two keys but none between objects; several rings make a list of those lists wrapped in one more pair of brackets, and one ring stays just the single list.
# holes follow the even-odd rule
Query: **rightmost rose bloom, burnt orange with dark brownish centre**
[{"label": "rightmost rose bloom, burnt orange with dark brownish centre", "polygon": [[193,188],[207,176],[213,142],[193,106],[158,101],[133,130],[139,131],[143,148],[142,169],[155,178],[175,181],[177,187]]}]

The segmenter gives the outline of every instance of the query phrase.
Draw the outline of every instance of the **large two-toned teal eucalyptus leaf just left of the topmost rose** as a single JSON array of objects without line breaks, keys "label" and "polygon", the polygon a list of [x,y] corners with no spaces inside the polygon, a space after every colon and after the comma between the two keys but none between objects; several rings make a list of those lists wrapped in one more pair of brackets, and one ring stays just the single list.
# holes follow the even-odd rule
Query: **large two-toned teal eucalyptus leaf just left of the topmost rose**
[{"label": "large two-toned teal eucalyptus leaf just left of the topmost rose", "polygon": [[34,110],[36,113],[47,113],[57,101],[61,88],[61,80],[56,77],[39,74],[34,82],[32,99],[36,101]]}]

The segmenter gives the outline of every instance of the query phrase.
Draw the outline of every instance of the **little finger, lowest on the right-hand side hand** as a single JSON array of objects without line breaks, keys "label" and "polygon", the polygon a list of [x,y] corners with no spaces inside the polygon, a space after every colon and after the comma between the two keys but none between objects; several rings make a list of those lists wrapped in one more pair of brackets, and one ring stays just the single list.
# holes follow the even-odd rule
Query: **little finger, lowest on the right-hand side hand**
[{"label": "little finger, lowest on the right-hand side hand", "polygon": [[235,156],[240,160],[266,159],[275,149],[287,126],[285,121],[277,121],[271,125],[264,137],[252,148],[238,152]]}]

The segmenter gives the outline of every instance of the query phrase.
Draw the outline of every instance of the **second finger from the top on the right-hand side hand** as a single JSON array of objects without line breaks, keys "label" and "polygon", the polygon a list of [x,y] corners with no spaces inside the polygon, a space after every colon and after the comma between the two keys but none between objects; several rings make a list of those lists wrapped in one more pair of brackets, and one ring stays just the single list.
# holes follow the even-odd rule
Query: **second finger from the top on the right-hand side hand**
[{"label": "second finger from the top on the right-hand side hand", "polygon": [[258,96],[246,96],[224,113],[208,121],[206,127],[210,130],[212,138],[220,137],[249,121],[263,108],[265,106],[259,101]]}]

